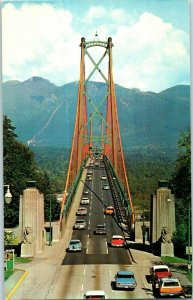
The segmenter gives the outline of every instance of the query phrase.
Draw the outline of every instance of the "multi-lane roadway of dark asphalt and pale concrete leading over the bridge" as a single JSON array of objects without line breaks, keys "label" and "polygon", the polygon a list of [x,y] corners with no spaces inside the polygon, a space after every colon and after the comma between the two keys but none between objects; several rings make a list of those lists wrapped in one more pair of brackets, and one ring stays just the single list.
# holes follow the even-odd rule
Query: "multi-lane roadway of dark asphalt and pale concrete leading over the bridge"
[{"label": "multi-lane roadway of dark asphalt and pale concrete leading over the bridge", "polygon": [[[86,178],[83,172],[83,181]],[[145,274],[149,272],[149,254],[141,257],[138,263],[132,263],[126,248],[112,248],[108,243],[114,234],[122,234],[114,218],[104,215],[103,205],[112,205],[110,190],[103,190],[103,167],[93,168],[92,181],[85,181],[94,193],[89,192],[90,204],[85,218],[85,230],[73,230],[76,211],[85,187],[80,183],[75,199],[64,224],[63,237],[59,243],[47,246],[46,251],[34,258],[31,263],[21,268],[27,270],[27,276],[12,295],[11,299],[83,299],[88,290],[104,290],[108,299],[150,299],[154,298],[151,285],[147,283]],[[97,196],[96,196],[96,195]],[[84,195],[86,196],[86,195]],[[100,200],[98,199],[100,198]],[[106,224],[106,235],[94,235],[97,224]],[[67,253],[66,248],[71,239],[81,240],[83,248],[80,253]],[[143,254],[142,254],[143,255]],[[152,257],[150,255],[150,257]],[[119,270],[133,271],[137,280],[134,291],[115,290],[114,276]]]}]

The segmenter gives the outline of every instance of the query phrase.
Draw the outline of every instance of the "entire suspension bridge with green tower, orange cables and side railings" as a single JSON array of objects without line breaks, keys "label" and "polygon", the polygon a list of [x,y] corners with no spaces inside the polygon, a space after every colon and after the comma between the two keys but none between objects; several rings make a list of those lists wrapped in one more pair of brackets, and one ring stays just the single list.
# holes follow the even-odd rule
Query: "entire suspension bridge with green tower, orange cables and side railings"
[{"label": "entire suspension bridge with green tower, orange cables and side railings", "polygon": [[[106,172],[113,205],[116,209],[116,220],[122,229],[126,229],[131,236],[134,232],[134,211],[121,142],[113,80],[113,42],[111,37],[107,41],[100,41],[97,33],[95,37],[97,39],[88,42],[82,37],[80,43],[78,99],[60,225],[62,227],[63,217],[68,213],[73,201],[83,169],[87,168],[88,172],[92,166],[93,178],[96,178],[97,166],[97,170],[102,167]],[[99,48],[101,53],[96,60],[92,51]],[[90,68],[89,74],[86,74],[89,63],[92,68]],[[92,89],[87,87],[96,73],[104,81],[105,88],[103,94],[100,93],[101,98],[93,99]],[[99,165],[96,163],[98,159],[100,160]],[[89,164],[89,161],[94,161],[94,167],[93,164]],[[91,189],[91,192],[98,194],[96,190]]]}]

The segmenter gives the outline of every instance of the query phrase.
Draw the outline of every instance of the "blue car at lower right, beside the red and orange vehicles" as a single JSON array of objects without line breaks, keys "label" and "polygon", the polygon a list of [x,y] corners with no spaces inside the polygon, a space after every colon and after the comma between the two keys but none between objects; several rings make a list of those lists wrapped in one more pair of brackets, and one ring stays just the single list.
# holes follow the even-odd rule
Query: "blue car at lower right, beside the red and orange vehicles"
[{"label": "blue car at lower right, beside the red and orange vehicles", "polygon": [[119,271],[115,275],[115,287],[118,289],[134,290],[137,282],[134,273],[131,271]]}]

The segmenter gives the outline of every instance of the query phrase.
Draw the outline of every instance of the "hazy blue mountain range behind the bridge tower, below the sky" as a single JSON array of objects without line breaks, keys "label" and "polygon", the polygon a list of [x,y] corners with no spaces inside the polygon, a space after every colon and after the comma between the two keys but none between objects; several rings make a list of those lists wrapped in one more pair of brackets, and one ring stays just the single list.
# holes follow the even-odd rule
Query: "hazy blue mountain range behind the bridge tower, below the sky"
[{"label": "hazy blue mountain range behind the bridge tower, below the sky", "polygon": [[[105,89],[104,83],[88,83],[87,93],[92,97],[88,115],[92,103],[104,98]],[[115,85],[115,92],[125,150],[176,151],[180,132],[190,127],[190,86],[178,85],[154,93]],[[78,82],[58,87],[41,77],[7,81],[2,84],[3,114],[12,120],[23,143],[70,147],[77,93]],[[105,107],[103,101],[104,112]]]}]

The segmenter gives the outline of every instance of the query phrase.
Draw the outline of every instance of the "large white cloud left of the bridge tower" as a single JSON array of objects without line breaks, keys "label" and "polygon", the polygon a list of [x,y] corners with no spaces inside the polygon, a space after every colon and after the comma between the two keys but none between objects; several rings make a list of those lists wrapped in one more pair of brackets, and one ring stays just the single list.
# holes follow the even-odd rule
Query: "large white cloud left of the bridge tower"
[{"label": "large white cloud left of the bridge tower", "polygon": [[69,11],[48,4],[20,9],[8,4],[2,15],[4,77],[23,80],[39,75],[58,84],[73,80],[70,61],[79,65],[80,37]]}]

